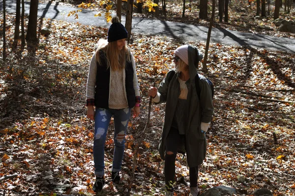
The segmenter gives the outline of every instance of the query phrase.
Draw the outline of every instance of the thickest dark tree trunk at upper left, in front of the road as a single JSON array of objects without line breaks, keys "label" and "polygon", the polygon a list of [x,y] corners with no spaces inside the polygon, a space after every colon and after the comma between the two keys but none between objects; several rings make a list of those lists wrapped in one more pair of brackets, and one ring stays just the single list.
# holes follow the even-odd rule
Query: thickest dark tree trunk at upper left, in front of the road
[{"label": "thickest dark tree trunk at upper left, in front of the road", "polygon": [[27,30],[26,40],[28,43],[28,50],[33,54],[37,46],[37,12],[38,0],[31,0],[29,5],[29,24]]}]

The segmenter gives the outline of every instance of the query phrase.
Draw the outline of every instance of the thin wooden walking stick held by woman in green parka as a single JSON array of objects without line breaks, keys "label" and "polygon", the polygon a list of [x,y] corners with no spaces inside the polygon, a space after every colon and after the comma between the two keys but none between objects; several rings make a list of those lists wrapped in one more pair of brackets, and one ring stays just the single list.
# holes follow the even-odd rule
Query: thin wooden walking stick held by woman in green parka
[{"label": "thin wooden walking stick held by woman in green parka", "polygon": [[[153,86],[155,86],[155,82],[154,82]],[[137,164],[137,154],[138,154],[138,151],[139,151],[139,147],[140,147],[140,145],[142,144],[142,142],[144,140],[145,133],[148,131],[149,119],[150,119],[150,109],[151,109],[151,99],[152,99],[152,97],[150,96],[149,101],[148,101],[148,120],[147,120],[147,123],[146,123],[146,127],[145,127],[145,129],[144,129],[144,131],[142,133],[142,136],[140,137],[140,139],[138,141],[138,144],[136,146],[136,150],[135,150],[135,153],[134,153],[134,156],[133,156],[132,175],[131,175],[131,179],[130,179],[130,185],[129,185],[129,188],[128,188],[127,196],[130,196],[130,191],[132,189],[132,183],[133,183],[133,178],[134,178],[135,167],[136,167],[136,164]]]}]

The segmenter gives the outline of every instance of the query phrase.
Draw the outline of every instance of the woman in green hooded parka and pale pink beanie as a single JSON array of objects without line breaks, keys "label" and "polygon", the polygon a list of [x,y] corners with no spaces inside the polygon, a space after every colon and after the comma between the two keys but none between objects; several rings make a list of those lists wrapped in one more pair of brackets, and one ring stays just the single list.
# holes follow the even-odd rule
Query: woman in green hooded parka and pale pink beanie
[{"label": "woman in green hooded parka and pale pink beanie", "polygon": [[[206,155],[206,132],[212,115],[211,88],[198,74],[198,62],[203,59],[191,45],[179,46],[174,52],[175,69],[170,70],[159,88],[151,87],[148,95],[156,104],[166,102],[164,126],[159,153],[164,163],[166,196],[174,195],[175,161],[177,153],[186,153],[189,166],[190,195],[198,195],[198,166]],[[199,77],[196,77],[198,74]],[[200,98],[196,91],[199,80]]]}]

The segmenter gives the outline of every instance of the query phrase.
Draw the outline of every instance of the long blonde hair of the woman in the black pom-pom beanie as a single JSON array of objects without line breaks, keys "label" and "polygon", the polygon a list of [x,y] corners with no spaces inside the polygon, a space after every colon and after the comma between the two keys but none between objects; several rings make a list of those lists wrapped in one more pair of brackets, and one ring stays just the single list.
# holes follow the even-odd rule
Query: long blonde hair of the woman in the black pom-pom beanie
[{"label": "long blonde hair of the woman in the black pom-pom beanie", "polygon": [[129,47],[125,45],[122,50],[119,50],[117,41],[109,43],[105,39],[98,41],[98,47],[95,51],[95,60],[102,66],[99,55],[100,51],[106,54],[107,68],[111,67],[113,70],[121,70],[125,68],[126,61],[131,62]]}]

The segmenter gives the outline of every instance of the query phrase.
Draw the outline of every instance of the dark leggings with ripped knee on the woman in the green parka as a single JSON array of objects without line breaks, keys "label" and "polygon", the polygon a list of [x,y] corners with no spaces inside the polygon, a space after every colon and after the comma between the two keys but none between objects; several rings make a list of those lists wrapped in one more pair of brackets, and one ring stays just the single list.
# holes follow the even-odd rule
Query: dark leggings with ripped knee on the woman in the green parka
[{"label": "dark leggings with ripped knee on the woman in the green parka", "polygon": [[[179,145],[180,141],[183,139],[185,142],[184,135],[179,135],[178,130],[175,128],[171,128],[166,138],[164,175],[165,175],[166,188],[168,190],[173,190],[173,183],[175,182],[175,161],[176,161],[176,155],[177,155],[177,146]],[[168,155],[167,152],[173,152],[173,154]],[[189,168],[190,187],[197,187],[198,172],[199,172],[198,166]]]}]

